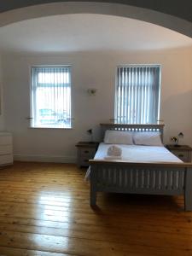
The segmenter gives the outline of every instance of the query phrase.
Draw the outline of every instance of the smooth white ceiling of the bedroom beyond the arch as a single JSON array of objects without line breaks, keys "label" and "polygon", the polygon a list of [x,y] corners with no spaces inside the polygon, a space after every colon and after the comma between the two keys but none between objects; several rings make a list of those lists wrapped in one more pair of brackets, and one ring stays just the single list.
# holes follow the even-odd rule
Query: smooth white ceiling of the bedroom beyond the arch
[{"label": "smooth white ceiling of the bedroom beyond the arch", "polygon": [[0,27],[2,52],[133,51],[191,47],[192,38],[141,20],[56,15]]}]

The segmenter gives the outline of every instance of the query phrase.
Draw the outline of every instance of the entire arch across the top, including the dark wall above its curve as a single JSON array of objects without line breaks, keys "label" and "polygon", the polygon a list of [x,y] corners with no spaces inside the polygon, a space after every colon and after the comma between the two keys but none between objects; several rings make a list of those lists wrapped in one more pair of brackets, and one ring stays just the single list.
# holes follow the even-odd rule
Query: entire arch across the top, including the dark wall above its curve
[{"label": "entire arch across the top, including the dark wall above its curve", "polygon": [[147,21],[192,38],[191,13],[191,0],[2,0],[0,26],[51,15],[98,14]]}]

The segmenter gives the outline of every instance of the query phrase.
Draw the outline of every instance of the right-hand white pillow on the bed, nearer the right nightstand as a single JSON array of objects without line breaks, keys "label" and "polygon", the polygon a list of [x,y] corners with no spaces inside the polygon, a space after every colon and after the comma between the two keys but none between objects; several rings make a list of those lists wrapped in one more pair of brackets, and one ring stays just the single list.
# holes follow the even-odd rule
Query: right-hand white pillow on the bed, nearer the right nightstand
[{"label": "right-hand white pillow on the bed, nearer the right nightstand", "polygon": [[140,131],[133,133],[133,142],[136,145],[163,146],[158,131]]}]

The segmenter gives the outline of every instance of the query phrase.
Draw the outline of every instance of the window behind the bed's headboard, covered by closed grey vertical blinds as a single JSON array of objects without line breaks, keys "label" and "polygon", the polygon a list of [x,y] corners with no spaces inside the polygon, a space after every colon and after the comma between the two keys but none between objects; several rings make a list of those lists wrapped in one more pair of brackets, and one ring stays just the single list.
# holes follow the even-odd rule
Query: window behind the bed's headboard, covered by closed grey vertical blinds
[{"label": "window behind the bed's headboard, covered by closed grey vertical blinds", "polygon": [[115,120],[120,124],[155,124],[160,113],[160,65],[117,68]]}]

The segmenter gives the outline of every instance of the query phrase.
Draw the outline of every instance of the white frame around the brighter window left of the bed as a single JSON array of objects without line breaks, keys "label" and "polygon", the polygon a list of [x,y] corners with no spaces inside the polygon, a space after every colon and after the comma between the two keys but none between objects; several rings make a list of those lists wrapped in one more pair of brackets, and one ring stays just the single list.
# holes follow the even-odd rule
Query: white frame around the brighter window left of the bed
[{"label": "white frame around the brighter window left of the bed", "polygon": [[[34,105],[33,105],[33,97],[34,97],[34,88],[32,84],[32,71],[33,68],[68,68],[70,70],[69,73],[69,86],[70,86],[70,116],[67,118],[69,121],[69,125],[62,126],[62,125],[47,125],[47,126],[41,126],[41,125],[34,125]],[[72,66],[71,65],[32,65],[30,67],[30,128],[32,129],[72,129],[73,128],[73,118],[72,118]]]}]

